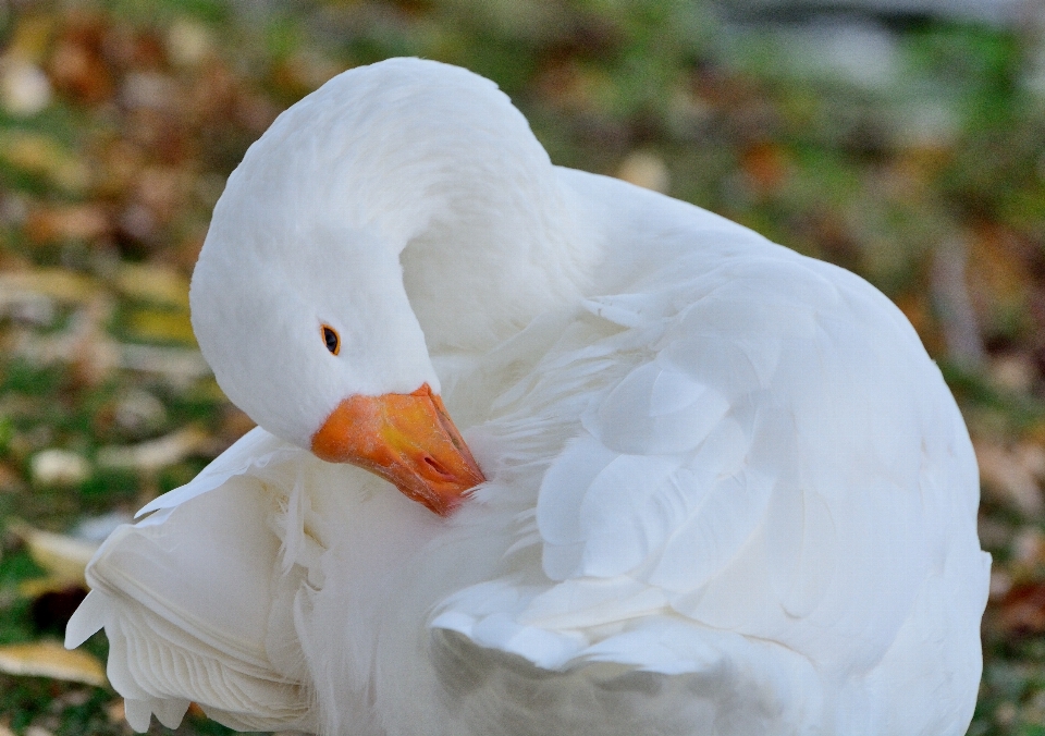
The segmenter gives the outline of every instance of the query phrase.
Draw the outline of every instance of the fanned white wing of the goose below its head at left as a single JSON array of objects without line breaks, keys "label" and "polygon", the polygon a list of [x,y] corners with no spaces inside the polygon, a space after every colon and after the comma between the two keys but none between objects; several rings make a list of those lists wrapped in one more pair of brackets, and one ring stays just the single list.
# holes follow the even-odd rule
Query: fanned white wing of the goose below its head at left
[{"label": "fanned white wing of the goose below its head at left", "polygon": [[270,444],[282,443],[261,430],[245,437],[209,473],[161,496],[151,517],[118,528],[88,567],[91,592],[65,643],[78,646],[104,626],[109,679],[136,731],[148,728],[150,713],[175,727],[189,698],[239,729],[315,731],[302,663],[279,657],[293,647],[294,627],[270,621],[270,611],[293,610],[286,584],[293,591],[300,581],[274,575],[279,505],[259,478],[242,475],[279,454],[244,449]]}]

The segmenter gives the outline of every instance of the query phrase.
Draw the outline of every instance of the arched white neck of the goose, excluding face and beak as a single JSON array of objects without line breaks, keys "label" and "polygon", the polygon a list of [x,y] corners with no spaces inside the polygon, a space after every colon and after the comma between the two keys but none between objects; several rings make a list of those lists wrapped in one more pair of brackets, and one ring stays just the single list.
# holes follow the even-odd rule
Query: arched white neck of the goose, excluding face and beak
[{"label": "arched white neck of the goose, excluding face and beak", "polygon": [[372,236],[399,256],[430,352],[489,347],[585,291],[591,248],[569,192],[526,119],[469,72],[347,72],[251,150],[230,186],[260,195],[237,204],[255,247]]}]

